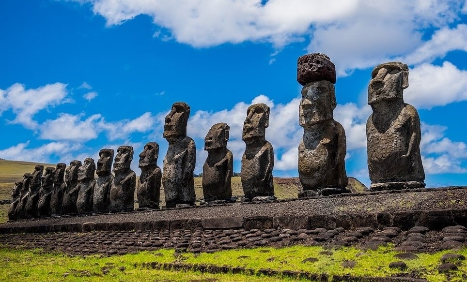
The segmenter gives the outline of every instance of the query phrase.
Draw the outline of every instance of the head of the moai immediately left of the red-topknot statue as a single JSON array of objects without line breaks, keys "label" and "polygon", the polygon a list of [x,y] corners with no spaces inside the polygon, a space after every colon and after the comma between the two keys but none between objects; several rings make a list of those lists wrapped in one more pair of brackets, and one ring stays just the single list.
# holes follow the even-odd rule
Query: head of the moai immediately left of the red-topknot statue
[{"label": "head of the moai immediately left of the red-topknot statue", "polygon": [[266,104],[252,104],[248,107],[247,118],[243,122],[243,141],[264,139],[269,126],[271,108]]}]

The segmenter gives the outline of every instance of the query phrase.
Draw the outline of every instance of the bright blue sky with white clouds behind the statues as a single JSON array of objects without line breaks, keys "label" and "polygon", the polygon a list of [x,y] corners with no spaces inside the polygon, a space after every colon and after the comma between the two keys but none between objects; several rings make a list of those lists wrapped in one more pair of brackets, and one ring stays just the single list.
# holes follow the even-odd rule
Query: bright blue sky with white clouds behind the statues
[{"label": "bright blue sky with white clouds behind the statues", "polygon": [[266,139],[274,176],[297,176],[301,86],[296,60],[326,53],[335,63],[334,119],[347,136],[346,169],[369,185],[365,123],[371,71],[410,67],[405,102],[422,122],[429,187],[467,184],[467,4],[460,1],[2,0],[0,158],[69,163],[131,145],[132,167],[162,138],[171,104],[191,106],[197,145],[218,122],[240,171],[247,107],[271,107]]}]

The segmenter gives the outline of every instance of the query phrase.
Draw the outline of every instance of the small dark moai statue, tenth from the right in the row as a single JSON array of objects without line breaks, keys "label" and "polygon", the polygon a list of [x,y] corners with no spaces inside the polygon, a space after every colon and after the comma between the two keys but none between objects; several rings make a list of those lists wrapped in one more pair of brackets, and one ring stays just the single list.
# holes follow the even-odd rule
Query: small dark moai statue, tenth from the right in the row
[{"label": "small dark moai statue, tenth from the right in the row", "polygon": [[78,199],[79,183],[78,169],[81,167],[80,161],[71,161],[65,170],[66,191],[63,194],[62,213],[77,214],[76,200]]}]

